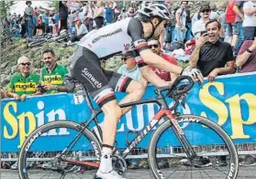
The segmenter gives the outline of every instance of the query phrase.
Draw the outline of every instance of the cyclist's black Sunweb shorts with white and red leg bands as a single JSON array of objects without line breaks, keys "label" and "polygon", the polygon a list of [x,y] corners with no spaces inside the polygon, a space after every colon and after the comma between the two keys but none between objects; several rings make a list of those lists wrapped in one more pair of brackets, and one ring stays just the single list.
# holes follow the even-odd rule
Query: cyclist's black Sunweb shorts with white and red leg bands
[{"label": "cyclist's black Sunweb shorts with white and red leg bands", "polygon": [[94,52],[79,47],[72,58],[72,77],[81,82],[95,102],[102,108],[108,101],[116,100],[114,91],[125,92],[132,79],[101,67]]}]

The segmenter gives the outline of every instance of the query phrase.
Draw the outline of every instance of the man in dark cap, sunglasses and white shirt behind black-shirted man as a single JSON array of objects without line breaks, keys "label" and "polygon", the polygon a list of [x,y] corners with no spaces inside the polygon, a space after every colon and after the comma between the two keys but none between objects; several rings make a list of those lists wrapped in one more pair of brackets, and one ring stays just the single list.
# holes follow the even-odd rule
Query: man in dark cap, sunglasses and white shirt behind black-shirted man
[{"label": "man in dark cap, sunglasses and white shirt behind black-shirted man", "polygon": [[206,23],[210,20],[211,9],[209,5],[200,6],[200,20],[197,20],[195,24],[192,25],[192,33],[195,36],[195,39],[200,37],[200,33],[206,31]]}]

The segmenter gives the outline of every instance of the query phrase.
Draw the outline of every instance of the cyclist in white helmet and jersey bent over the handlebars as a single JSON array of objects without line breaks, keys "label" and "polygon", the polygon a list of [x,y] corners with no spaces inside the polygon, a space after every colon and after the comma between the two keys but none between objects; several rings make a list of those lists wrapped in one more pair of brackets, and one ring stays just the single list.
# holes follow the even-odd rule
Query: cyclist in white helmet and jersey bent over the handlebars
[{"label": "cyclist in white helmet and jersey bent over the handlebars", "polygon": [[[139,81],[101,68],[100,59],[110,58],[118,53],[134,50],[138,54],[136,59],[141,74],[156,86],[168,86],[168,83],[161,80],[146,64],[175,74],[189,75],[194,79],[203,79],[199,70],[184,70],[150,51],[145,37],[154,35],[157,27],[163,26],[164,21],[169,20],[169,18],[170,13],[165,5],[142,3],[139,9],[139,19],[126,18],[91,31],[81,39],[81,47],[72,58],[72,76],[85,85],[105,114],[101,163],[95,178],[123,178],[113,170],[111,155],[116,138],[117,122],[122,114],[130,108],[121,110],[114,90],[128,93],[120,103],[139,100],[144,94],[144,88]],[[144,37],[140,20],[148,20],[151,23],[151,34]]]}]

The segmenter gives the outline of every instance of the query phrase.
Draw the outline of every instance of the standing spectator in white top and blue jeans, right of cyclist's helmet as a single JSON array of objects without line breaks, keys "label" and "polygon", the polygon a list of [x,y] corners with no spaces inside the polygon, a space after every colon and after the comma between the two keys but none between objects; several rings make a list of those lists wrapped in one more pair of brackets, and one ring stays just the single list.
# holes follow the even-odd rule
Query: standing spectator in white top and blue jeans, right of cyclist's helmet
[{"label": "standing spectator in white top and blue jeans, right of cyclist's helmet", "polygon": [[188,1],[182,1],[181,8],[176,11],[175,41],[184,43],[186,35],[186,8]]}]

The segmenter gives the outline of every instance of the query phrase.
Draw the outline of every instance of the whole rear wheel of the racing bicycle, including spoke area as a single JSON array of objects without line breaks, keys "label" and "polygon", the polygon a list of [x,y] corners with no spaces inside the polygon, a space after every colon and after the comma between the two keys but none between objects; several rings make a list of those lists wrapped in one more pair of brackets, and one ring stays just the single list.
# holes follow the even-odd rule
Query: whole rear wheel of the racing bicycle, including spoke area
[{"label": "whole rear wheel of the racing bicycle, including spoke area", "polygon": [[[18,158],[19,177],[93,178],[99,165],[101,146],[87,129],[79,134],[82,130],[83,127],[73,121],[51,121],[40,126],[22,145]],[[68,147],[75,136],[79,136],[77,142]]]}]

